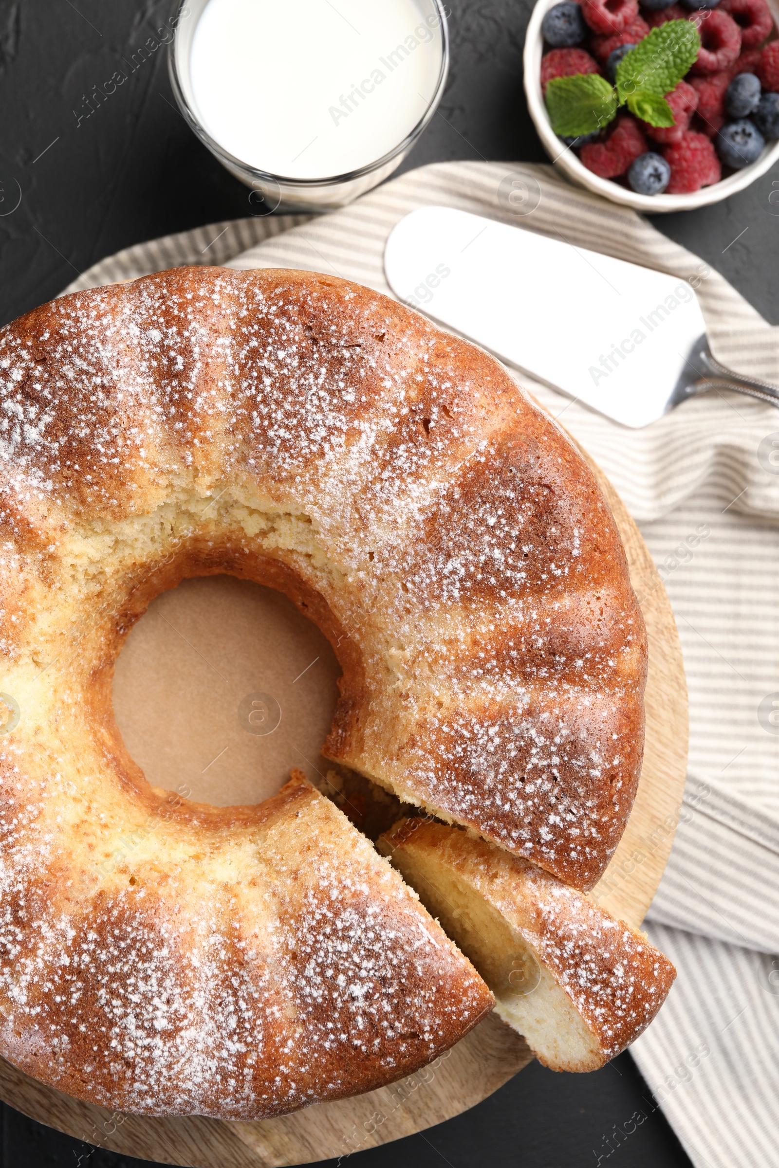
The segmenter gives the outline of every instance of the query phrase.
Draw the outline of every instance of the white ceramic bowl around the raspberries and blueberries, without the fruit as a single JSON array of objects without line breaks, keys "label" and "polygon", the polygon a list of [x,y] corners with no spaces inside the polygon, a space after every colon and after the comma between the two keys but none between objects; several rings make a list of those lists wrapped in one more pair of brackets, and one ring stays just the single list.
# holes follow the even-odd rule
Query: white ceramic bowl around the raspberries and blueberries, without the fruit
[{"label": "white ceramic bowl around the raspberries and blueberries, without the fruit", "polygon": [[[737,190],[743,190],[751,182],[765,174],[775,161],[779,160],[779,141],[768,142],[759,159],[743,171],[715,182],[712,187],[703,187],[691,195],[638,195],[634,190],[620,187],[611,179],[599,179],[592,171],[587,171],[572,150],[569,150],[557,137],[549,123],[549,114],[544,99],[541,96],[541,57],[543,55],[543,35],[541,22],[558,0],[537,0],[524,41],[524,92],[528,98],[530,117],[538,131],[538,137],[544,150],[552,162],[580,187],[586,187],[596,195],[604,195],[614,203],[622,203],[625,207],[633,207],[637,211],[689,211],[696,207],[708,207],[709,203],[718,203],[729,195],[735,195]],[[768,0],[768,7],[774,22],[779,26],[779,0]]]}]

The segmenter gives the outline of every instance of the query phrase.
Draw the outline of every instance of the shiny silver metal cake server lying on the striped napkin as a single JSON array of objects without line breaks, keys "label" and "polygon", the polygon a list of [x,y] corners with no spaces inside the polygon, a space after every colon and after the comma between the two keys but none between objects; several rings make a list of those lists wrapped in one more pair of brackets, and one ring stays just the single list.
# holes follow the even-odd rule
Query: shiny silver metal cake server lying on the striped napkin
[{"label": "shiny silver metal cake server lying on the striped napkin", "polygon": [[779,388],[711,355],[689,283],[561,238],[448,207],[412,211],[384,250],[405,304],[622,425],[646,426],[696,394]]}]

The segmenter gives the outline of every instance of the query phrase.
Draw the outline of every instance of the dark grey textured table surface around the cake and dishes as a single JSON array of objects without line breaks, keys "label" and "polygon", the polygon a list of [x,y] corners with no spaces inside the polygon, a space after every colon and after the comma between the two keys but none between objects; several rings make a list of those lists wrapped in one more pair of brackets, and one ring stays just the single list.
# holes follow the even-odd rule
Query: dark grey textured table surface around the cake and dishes
[{"label": "dark grey textured table surface around the cake and dishes", "polygon": [[[451,7],[452,70],[440,116],[402,169],[447,159],[547,161],[522,93],[531,0],[451,0]],[[169,8],[168,0],[0,0],[0,324],[120,248],[251,213],[246,189],[178,113],[164,50],[84,116],[92,86],[153,34]],[[777,190],[779,167],[726,202],[654,218],[772,324],[779,322],[779,196],[770,201]],[[637,1112],[646,1117],[638,1124],[631,1121]],[[7,1106],[1,1148],[4,1168],[141,1163]],[[530,1064],[458,1119],[354,1157],[362,1168],[398,1161],[409,1168],[690,1163],[628,1055],[582,1076]]]}]

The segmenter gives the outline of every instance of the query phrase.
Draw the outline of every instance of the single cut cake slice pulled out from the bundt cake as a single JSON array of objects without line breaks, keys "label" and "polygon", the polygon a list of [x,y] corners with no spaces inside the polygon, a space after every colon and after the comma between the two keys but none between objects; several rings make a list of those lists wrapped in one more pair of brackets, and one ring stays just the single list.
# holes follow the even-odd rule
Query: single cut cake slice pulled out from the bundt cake
[{"label": "single cut cake slice pulled out from the bundt cake", "polygon": [[425,819],[402,820],[377,847],[545,1066],[603,1066],[662,1006],[676,976],[670,961],[549,872]]}]

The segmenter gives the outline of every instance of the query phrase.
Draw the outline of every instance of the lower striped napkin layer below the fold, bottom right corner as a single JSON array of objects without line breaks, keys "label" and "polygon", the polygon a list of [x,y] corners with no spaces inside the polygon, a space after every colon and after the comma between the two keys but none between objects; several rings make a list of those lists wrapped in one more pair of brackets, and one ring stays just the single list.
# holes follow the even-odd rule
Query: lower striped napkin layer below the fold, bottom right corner
[{"label": "lower striped napkin layer below the fold, bottom right corner", "polygon": [[[648,933],[679,974],[631,1047],[651,1091],[642,1113],[662,1107],[696,1168],[775,1168],[779,959],[663,925]],[[631,1118],[615,1118],[593,1163],[621,1162],[607,1155],[639,1139]]]}]

